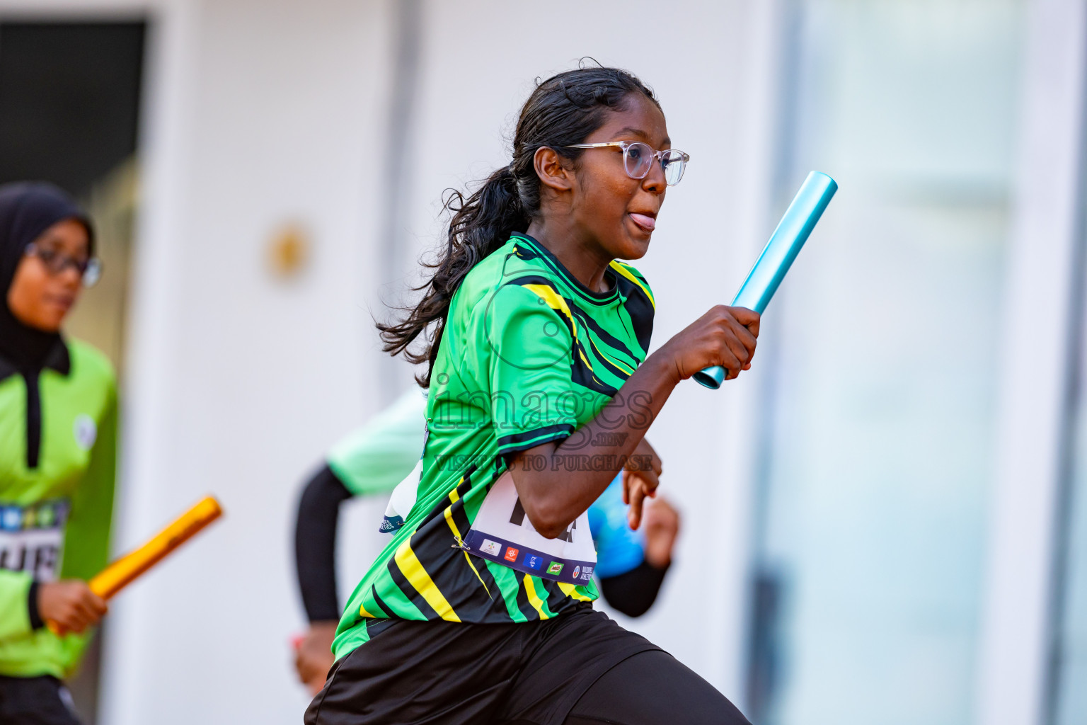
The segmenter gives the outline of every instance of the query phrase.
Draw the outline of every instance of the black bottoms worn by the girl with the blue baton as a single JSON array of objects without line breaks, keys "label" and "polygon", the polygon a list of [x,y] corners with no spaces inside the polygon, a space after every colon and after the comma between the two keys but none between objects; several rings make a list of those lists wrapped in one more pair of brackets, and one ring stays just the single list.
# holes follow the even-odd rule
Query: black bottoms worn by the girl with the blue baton
[{"label": "black bottoms worn by the girl with the blue baton", "polygon": [[[676,693],[714,713],[710,720],[687,723],[747,722],[670,654],[585,604],[552,620],[518,624],[397,620],[333,666],[305,712],[305,723],[563,725],[575,715],[582,720],[570,722],[624,722],[602,721],[598,714],[611,709],[608,698],[617,693],[615,687],[597,688],[601,697],[589,695],[597,680],[608,682],[602,677],[626,661],[648,664],[647,676],[658,673],[665,680],[687,683],[690,687],[679,687]],[[642,698],[653,695],[663,703],[672,699],[675,688],[638,680],[628,673],[615,682],[633,682]],[[652,684],[658,683],[666,684],[660,678]]]}]

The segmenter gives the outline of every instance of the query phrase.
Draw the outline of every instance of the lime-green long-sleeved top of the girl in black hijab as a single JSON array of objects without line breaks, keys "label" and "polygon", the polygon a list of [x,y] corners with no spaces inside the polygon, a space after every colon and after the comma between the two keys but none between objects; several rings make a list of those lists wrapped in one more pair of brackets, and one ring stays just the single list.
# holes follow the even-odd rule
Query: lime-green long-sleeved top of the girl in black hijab
[{"label": "lime-green long-sleeved top of the girl in black hijab", "polygon": [[[89,579],[107,563],[116,468],[116,380],[102,353],[54,348],[38,376],[40,418],[26,380],[0,358],[0,675],[71,675],[91,633],[35,628],[32,583]],[[40,420],[37,465],[28,440]],[[36,614],[36,612],[34,612]]]}]

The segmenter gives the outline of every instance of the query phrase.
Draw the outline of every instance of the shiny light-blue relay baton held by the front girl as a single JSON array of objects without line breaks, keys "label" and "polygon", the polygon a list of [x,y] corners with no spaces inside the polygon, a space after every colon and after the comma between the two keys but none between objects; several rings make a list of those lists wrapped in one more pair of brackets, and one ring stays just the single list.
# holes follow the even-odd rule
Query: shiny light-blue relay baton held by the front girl
[{"label": "shiny light-blue relay baton held by the front girl", "polygon": [[[736,292],[732,307],[763,313],[837,190],[838,184],[826,174],[817,171],[808,174],[740,291]],[[720,365],[707,367],[695,373],[694,378],[708,388],[716,389],[725,382],[725,368]]]}]

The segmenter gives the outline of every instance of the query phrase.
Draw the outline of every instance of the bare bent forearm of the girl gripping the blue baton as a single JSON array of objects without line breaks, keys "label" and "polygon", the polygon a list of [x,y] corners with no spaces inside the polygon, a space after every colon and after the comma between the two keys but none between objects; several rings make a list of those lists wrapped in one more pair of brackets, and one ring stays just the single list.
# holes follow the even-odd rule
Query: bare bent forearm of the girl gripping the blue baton
[{"label": "bare bent forearm of the girl gripping the blue baton", "polygon": [[511,462],[517,495],[537,532],[549,538],[559,536],[624,465],[651,465],[649,460],[630,457],[678,382],[673,357],[662,348],[572,436],[561,443],[530,448]]}]

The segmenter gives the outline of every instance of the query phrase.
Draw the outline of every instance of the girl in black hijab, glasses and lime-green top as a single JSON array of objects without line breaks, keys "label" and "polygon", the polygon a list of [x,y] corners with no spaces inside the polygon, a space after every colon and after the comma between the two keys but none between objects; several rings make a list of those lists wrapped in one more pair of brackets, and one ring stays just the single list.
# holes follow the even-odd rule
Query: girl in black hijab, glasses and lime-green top
[{"label": "girl in black hijab, glasses and lime-green top", "polygon": [[60,333],[93,252],[66,193],[0,186],[0,723],[78,722],[61,678],[107,610],[86,582],[109,553],[116,383]]}]

